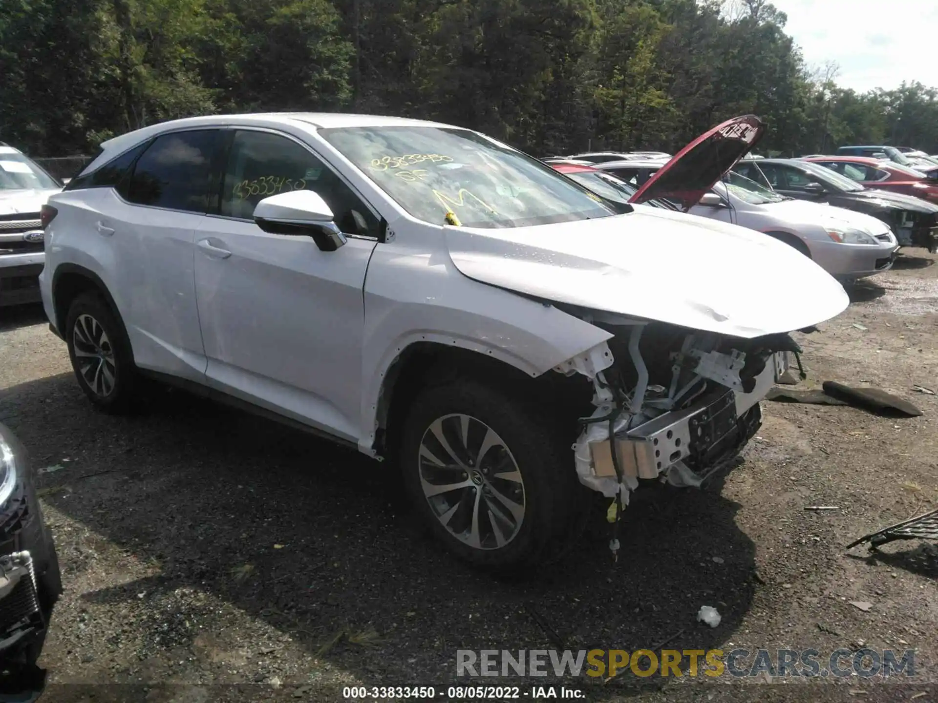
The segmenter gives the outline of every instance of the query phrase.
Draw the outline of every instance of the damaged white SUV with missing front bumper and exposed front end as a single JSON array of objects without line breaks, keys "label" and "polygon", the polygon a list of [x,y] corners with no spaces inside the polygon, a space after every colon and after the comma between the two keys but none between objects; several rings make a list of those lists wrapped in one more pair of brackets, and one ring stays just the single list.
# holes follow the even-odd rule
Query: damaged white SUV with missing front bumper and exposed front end
[{"label": "damaged white SUV with missing front bumper and exposed front end", "polygon": [[43,221],[44,305],[99,408],[155,377],[394,458],[431,530],[494,567],[556,555],[583,486],[694,483],[759,426],[786,333],[847,305],[758,232],[416,120],[146,127]]}]

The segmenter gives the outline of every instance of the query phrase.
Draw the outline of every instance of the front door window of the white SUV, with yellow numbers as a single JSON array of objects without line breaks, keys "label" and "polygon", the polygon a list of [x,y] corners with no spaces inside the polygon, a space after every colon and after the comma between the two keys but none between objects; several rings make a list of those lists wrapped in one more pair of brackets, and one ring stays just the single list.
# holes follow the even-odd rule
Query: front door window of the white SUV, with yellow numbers
[{"label": "front door window of the white SUV, with yellow numbers", "polygon": [[221,184],[221,215],[250,219],[266,197],[304,189],[322,197],[342,232],[378,235],[377,217],[308,149],[268,132],[235,133]]}]

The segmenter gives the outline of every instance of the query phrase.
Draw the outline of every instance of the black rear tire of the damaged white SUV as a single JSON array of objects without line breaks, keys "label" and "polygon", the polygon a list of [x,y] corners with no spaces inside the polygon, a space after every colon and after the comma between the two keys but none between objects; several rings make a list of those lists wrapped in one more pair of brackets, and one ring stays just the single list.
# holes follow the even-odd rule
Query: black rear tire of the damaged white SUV
[{"label": "black rear tire of the damaged white SUV", "polygon": [[[79,319],[83,321],[85,330],[84,339],[76,339],[76,323]],[[88,319],[97,323],[103,337],[98,337],[101,341],[100,350],[105,352],[105,357],[110,358],[111,363],[106,359],[99,357],[91,358],[91,363],[100,367],[101,372],[98,377],[92,376],[86,378],[88,369],[87,363],[89,357],[81,356],[94,349],[89,349],[87,341],[92,342],[94,346],[94,337],[98,327],[91,325],[90,331],[86,326]],[[133,364],[133,353],[130,351],[130,342],[124,331],[123,325],[117,322],[111,307],[101,298],[98,293],[85,292],[72,301],[68,307],[68,316],[66,317],[65,338],[68,344],[68,358],[71,360],[71,367],[75,371],[75,378],[82,387],[84,395],[94,404],[98,410],[111,412],[114,414],[131,411],[134,407],[135,389],[137,386],[137,369]],[[76,348],[76,341],[78,347]],[[107,353],[110,352],[110,353]],[[106,383],[110,371],[113,381],[108,387]],[[103,376],[103,379],[101,377]],[[98,381],[100,379],[100,381]],[[92,387],[95,384],[96,387]]]}]

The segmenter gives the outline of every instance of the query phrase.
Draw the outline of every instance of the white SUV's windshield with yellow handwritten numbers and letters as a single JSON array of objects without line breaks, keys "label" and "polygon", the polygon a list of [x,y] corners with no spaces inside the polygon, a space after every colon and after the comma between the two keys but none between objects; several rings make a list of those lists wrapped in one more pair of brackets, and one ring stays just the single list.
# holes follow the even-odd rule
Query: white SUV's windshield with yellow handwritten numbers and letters
[{"label": "white SUV's windshield with yellow handwritten numbers and letters", "polygon": [[616,214],[536,158],[467,129],[336,127],[319,134],[431,224],[526,227]]}]

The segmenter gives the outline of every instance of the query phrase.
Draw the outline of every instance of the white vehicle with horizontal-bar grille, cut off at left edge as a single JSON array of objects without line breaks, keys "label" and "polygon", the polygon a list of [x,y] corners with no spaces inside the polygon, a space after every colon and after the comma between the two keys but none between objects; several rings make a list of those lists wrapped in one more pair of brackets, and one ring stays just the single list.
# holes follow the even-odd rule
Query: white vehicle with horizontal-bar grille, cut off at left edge
[{"label": "white vehicle with horizontal-bar grille, cut off at left edge", "polygon": [[39,208],[62,184],[0,142],[0,307],[39,300],[45,261]]}]

